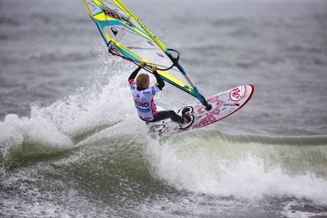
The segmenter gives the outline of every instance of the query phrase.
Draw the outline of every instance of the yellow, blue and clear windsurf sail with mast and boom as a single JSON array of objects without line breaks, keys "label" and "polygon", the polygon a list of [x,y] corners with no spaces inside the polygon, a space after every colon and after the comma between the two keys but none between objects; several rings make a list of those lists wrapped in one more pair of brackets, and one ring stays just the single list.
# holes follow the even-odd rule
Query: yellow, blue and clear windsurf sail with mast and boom
[{"label": "yellow, blue and clear windsurf sail with mast and boom", "polygon": [[[198,98],[207,106],[207,110],[211,109],[211,105],[178,63],[179,52],[167,49],[125,5],[119,0],[82,1],[109,47],[109,53],[137,65],[145,61],[145,69],[149,72],[152,72],[151,66],[158,66],[157,72],[163,80]],[[180,73],[189,85],[180,81]]]}]

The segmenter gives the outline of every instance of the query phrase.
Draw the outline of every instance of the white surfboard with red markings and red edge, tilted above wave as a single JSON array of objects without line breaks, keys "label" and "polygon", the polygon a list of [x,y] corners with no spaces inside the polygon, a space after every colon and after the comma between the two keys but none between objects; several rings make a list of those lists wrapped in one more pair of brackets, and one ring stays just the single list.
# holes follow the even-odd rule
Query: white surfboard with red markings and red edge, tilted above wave
[{"label": "white surfboard with red markings and red edge, tilted above wave", "polygon": [[[148,123],[149,133],[151,136],[161,137],[213,124],[241,109],[250,100],[253,91],[253,85],[244,85],[210,96],[206,98],[212,105],[212,109],[209,111],[200,101],[187,105],[185,107],[191,110],[191,122],[184,126],[172,122],[170,119],[157,123]],[[180,108],[176,113],[181,115],[181,111],[185,107]]]}]

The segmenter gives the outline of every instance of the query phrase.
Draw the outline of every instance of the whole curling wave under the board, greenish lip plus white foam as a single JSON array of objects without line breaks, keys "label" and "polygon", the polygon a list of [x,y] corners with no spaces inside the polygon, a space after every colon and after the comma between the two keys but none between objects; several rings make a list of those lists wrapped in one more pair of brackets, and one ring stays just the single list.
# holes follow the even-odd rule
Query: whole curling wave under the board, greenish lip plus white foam
[{"label": "whole curling wave under the board, greenish lip plus white foam", "polygon": [[[310,146],[310,141],[324,141],[322,137],[307,139],[307,146],[290,147],[296,136],[271,145],[271,136],[250,142],[242,139],[244,135],[237,141],[237,135],[220,131],[193,131],[162,139],[147,151],[153,174],[177,189],[239,199],[304,198],[326,205],[327,141]],[[317,148],[320,155],[313,155]]]}]

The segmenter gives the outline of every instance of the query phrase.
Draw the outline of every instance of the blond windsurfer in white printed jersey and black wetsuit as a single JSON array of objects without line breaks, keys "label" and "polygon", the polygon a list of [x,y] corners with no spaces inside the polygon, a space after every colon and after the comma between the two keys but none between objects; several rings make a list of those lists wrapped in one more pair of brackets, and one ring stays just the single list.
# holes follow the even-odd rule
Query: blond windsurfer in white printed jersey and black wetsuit
[{"label": "blond windsurfer in white printed jersey and black wetsuit", "polygon": [[[185,125],[191,122],[191,113],[189,108],[182,110],[182,116],[179,116],[172,110],[157,111],[156,104],[153,102],[155,94],[164,87],[163,79],[157,72],[157,66],[152,66],[153,75],[157,79],[155,86],[150,87],[150,77],[147,74],[138,72],[144,68],[145,62],[141,61],[139,67],[129,76],[128,82],[134,98],[134,104],[141,120],[150,123],[158,122],[170,118],[173,122]],[[136,77],[136,80],[134,80]]]}]

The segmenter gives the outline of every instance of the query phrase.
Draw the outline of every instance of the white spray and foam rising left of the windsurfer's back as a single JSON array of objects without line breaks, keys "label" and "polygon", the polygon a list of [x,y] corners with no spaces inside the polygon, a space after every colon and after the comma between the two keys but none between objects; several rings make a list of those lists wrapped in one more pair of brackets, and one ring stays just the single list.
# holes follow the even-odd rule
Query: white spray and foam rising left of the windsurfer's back
[{"label": "white spray and foam rising left of the windsurfer's back", "polygon": [[30,118],[8,114],[0,122],[2,156],[9,151],[20,152],[23,147],[24,152],[32,153],[35,149],[38,153],[69,149],[90,134],[124,120],[138,120],[127,83],[135,66],[124,65],[126,70],[119,72],[110,69],[111,75],[108,76],[108,66],[113,64],[112,59],[104,60],[103,66],[95,70],[95,79],[90,79],[74,93],[50,106],[32,103]]}]

